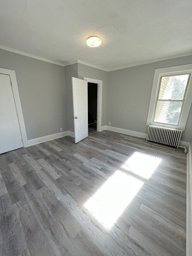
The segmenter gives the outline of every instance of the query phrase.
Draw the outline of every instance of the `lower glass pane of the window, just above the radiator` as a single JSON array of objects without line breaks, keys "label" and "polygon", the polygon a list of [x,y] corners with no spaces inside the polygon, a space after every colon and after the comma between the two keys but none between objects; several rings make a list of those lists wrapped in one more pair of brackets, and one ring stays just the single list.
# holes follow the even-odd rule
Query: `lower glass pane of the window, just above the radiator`
[{"label": "lower glass pane of the window, just above the radiator", "polygon": [[178,124],[181,112],[181,101],[157,101],[155,122]]}]

